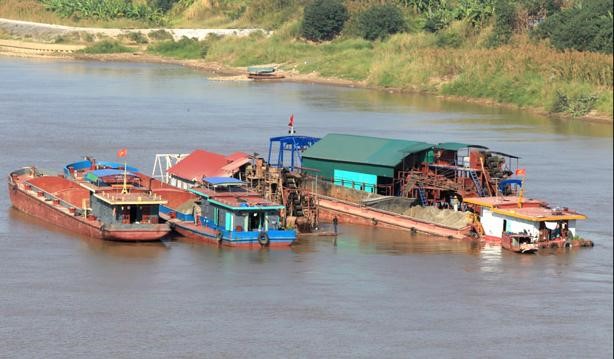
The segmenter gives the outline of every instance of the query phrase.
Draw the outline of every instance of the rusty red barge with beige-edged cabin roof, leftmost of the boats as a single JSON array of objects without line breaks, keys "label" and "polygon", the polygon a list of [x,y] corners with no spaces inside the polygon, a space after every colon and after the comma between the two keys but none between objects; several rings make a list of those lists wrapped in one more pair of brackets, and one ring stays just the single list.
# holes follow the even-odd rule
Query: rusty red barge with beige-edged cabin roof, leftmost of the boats
[{"label": "rusty red barge with beige-edged cabin roof, leftmost of the boats", "polygon": [[44,174],[35,167],[11,172],[8,189],[13,207],[75,233],[105,240],[155,241],[170,232],[168,224],[158,223],[158,208],[166,201],[133,183],[127,185],[129,192],[122,193],[116,181],[123,178],[124,171],[97,169],[91,162],[87,171],[70,165],[66,170],[75,177]]}]

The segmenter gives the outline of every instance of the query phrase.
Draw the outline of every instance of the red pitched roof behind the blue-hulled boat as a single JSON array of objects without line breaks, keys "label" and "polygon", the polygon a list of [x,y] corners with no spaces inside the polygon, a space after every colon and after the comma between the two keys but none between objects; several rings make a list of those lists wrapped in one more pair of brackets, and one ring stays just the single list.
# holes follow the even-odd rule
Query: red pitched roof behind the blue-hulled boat
[{"label": "red pitched roof behind the blue-hulled boat", "polygon": [[[205,150],[195,150],[189,156],[179,161],[176,165],[168,169],[168,173],[193,181],[203,177],[231,176],[239,170],[239,163],[247,163],[249,155],[242,152],[235,152],[230,156]],[[236,164],[238,166],[229,166]]]}]

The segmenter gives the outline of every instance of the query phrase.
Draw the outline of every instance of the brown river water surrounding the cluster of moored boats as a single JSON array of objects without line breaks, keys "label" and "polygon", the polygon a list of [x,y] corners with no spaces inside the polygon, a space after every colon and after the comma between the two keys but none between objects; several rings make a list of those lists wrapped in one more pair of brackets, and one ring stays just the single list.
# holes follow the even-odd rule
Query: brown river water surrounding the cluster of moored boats
[{"label": "brown river water surrounding the cluster of moored boats", "polygon": [[520,256],[360,226],[289,250],[120,244],[27,218],[0,192],[0,357],[612,357],[612,125],[419,95],[217,82],[189,69],[0,58],[0,172],[83,155],[266,153],[355,133],[490,146],[527,191],[586,213],[592,249]]}]

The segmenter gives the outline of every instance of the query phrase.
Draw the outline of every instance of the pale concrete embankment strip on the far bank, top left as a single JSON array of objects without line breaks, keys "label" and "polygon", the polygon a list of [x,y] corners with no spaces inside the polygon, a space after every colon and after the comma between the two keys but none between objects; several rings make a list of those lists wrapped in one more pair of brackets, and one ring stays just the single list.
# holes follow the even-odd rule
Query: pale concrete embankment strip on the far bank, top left
[{"label": "pale concrete embankment strip on the far bank, top left", "polygon": [[106,29],[94,27],[74,27],[53,24],[41,24],[30,21],[11,20],[0,18],[0,30],[10,36],[17,38],[29,38],[35,41],[55,41],[63,37],[84,37],[88,35],[96,39],[119,38],[130,33],[140,33],[144,36],[150,33],[164,30],[169,33],[174,40],[183,37],[203,40],[209,35],[218,36],[249,36],[254,32],[268,34],[262,29]]}]

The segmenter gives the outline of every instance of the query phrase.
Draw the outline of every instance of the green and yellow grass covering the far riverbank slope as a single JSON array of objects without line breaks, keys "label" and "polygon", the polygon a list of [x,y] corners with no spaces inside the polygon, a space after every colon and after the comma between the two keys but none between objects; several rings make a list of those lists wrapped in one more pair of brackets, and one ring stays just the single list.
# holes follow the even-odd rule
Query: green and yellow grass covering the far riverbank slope
[{"label": "green and yellow grass covering the far riverbank slope", "polygon": [[[41,6],[35,0],[24,3],[39,9]],[[426,15],[416,12],[415,7],[404,8],[409,25],[405,32],[368,41],[357,35],[353,19],[359,19],[355,15],[374,1],[350,0],[345,3],[354,15],[344,31],[332,41],[316,43],[301,36],[304,3],[307,2],[195,0],[179,2],[183,7],[177,5],[166,14],[171,25],[263,26],[274,30],[268,37],[263,34],[247,38],[210,37],[200,42],[152,36],[143,41],[129,37],[120,40],[132,47],[146,47],[145,51],[150,54],[173,59],[233,67],[278,64],[283,70],[313,78],[342,79],[374,88],[464,97],[540,112],[573,117],[588,114],[612,120],[611,53],[556,50],[548,40],[530,39],[526,30],[517,29],[510,32],[509,41],[493,47],[492,38],[498,30],[492,17],[485,17],[479,27],[465,19],[451,21],[441,30],[429,32],[424,30]],[[10,10],[12,15],[27,20],[66,24],[76,21],[45,10],[24,14],[26,10],[19,4],[16,0],[0,0],[0,16]],[[88,25],[101,26],[96,24],[99,22],[96,19],[78,21],[82,22],[81,26],[87,21],[91,22]],[[105,22],[104,26],[109,24],[113,21]],[[121,50],[120,46],[108,43],[86,49],[92,53]]]}]

